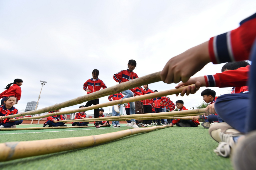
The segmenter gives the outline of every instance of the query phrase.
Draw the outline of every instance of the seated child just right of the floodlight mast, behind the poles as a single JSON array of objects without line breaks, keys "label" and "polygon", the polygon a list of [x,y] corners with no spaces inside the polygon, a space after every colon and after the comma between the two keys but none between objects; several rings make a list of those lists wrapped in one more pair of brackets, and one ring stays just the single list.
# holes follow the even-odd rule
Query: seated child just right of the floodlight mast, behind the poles
[{"label": "seated child just right of the floodlight mast, behind the poles", "polygon": [[[54,110],[54,111],[50,111],[49,113],[54,113],[54,112],[59,112],[60,109],[58,110]],[[58,120],[66,120],[65,117],[63,117],[63,115],[54,115],[54,116],[49,116],[47,117],[46,122],[44,123],[44,127],[48,127],[48,126],[67,126],[64,125],[64,122],[57,122]]]}]

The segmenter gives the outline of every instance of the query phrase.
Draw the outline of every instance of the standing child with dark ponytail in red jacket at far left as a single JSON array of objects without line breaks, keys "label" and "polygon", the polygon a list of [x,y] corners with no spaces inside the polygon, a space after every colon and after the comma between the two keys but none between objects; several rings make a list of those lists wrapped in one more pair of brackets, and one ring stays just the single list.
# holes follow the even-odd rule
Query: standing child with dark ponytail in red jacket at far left
[{"label": "standing child with dark ponytail in red jacket at far left", "polygon": [[[1,100],[1,106],[4,105],[4,101],[7,97],[9,96],[14,96],[17,98],[16,104],[18,104],[18,101],[20,100],[20,96],[21,96],[21,88],[20,86],[22,85],[23,81],[22,79],[15,79],[13,81],[13,83],[10,83],[6,86],[5,91],[3,91],[0,94],[0,99],[3,98]],[[12,85],[13,84],[13,85]],[[12,85],[12,86],[11,86]]]}]

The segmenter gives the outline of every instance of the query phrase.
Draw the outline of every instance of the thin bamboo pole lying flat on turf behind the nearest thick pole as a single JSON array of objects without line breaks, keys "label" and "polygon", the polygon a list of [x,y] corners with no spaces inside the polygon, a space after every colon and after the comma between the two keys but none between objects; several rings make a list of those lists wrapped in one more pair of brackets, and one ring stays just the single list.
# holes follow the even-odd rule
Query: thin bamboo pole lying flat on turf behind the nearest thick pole
[{"label": "thin bamboo pole lying flat on turf behind the nearest thick pole", "polygon": [[[100,125],[103,127],[104,125]],[[88,128],[94,126],[49,126],[49,127],[27,127],[27,128],[0,128],[0,131],[3,130],[42,130],[42,129],[71,129],[71,128]]]}]

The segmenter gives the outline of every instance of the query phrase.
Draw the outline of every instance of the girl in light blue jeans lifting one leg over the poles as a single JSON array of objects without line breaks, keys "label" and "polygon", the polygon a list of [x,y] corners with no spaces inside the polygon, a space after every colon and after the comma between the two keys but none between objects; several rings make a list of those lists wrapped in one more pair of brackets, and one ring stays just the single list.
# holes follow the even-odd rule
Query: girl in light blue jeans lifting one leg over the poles
[{"label": "girl in light blue jeans lifting one leg over the poles", "polygon": [[[114,74],[113,78],[116,82],[119,83],[123,83],[126,81],[130,81],[133,80],[135,78],[138,78],[138,75],[133,72],[133,70],[135,69],[137,63],[135,60],[131,59],[128,62],[128,69],[127,70],[121,70],[118,73]],[[122,91],[122,94],[124,94],[125,96],[123,97],[123,99],[125,98],[130,98],[133,97],[134,93],[131,90],[125,90]],[[135,114],[135,104],[134,102],[129,102],[130,103],[130,114],[134,115]],[[116,112],[120,112],[120,105],[115,105],[114,109]],[[137,124],[135,123],[135,119],[131,119],[131,127],[133,128],[138,128]]]}]

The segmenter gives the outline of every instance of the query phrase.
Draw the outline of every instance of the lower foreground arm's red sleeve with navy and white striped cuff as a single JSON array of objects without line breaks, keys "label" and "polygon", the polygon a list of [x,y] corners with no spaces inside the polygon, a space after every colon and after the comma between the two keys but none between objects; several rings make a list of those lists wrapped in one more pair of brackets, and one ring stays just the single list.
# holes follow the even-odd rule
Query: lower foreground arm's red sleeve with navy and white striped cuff
[{"label": "lower foreground arm's red sleeve with navy and white striped cuff", "polygon": [[250,66],[246,66],[236,70],[228,70],[215,75],[204,76],[206,87],[246,86],[249,80],[249,69]]}]

